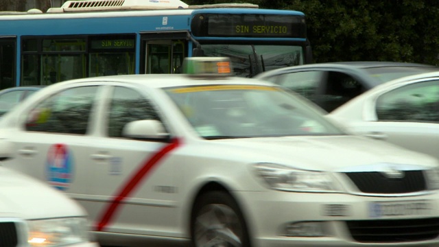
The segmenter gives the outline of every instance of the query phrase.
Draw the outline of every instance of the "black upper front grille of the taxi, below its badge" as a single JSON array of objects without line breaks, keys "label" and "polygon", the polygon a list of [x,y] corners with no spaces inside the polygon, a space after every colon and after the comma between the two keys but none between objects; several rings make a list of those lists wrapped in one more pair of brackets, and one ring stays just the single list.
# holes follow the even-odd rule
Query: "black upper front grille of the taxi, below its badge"
[{"label": "black upper front grille of the taxi, below its badge", "polygon": [[403,178],[388,178],[380,172],[346,172],[364,193],[410,193],[427,189],[423,171],[405,171]]}]

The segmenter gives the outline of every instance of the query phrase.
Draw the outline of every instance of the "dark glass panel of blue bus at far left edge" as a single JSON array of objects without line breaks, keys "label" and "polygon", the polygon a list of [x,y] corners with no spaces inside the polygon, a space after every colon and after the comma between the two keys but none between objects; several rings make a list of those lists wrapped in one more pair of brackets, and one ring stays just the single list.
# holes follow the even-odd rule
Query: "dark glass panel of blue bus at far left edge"
[{"label": "dark glass panel of blue bus at far left edge", "polygon": [[16,38],[0,37],[0,89],[16,86]]}]

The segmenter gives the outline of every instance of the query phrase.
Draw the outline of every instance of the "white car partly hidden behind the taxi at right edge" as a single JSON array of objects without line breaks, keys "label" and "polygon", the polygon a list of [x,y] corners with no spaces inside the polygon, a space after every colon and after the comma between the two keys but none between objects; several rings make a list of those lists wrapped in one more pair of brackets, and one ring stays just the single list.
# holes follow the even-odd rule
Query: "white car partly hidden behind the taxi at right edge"
[{"label": "white car partly hidden behind the taxi at right edge", "polygon": [[439,72],[386,82],[328,115],[346,130],[439,159]]}]

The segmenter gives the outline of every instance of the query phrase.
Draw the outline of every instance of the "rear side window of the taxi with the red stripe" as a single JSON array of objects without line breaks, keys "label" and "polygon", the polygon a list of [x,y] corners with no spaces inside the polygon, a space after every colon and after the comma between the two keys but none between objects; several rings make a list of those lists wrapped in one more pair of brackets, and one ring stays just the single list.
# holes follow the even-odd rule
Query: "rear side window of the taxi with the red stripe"
[{"label": "rear side window of the taxi with the red stripe", "polygon": [[26,130],[86,134],[97,86],[80,86],[51,95],[27,116]]}]

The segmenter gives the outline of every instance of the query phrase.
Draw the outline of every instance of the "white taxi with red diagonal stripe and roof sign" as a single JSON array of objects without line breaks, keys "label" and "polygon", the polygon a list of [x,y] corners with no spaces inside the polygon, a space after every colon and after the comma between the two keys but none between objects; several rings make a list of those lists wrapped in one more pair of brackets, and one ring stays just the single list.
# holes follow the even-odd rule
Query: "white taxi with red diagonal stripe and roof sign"
[{"label": "white taxi with red diagonal stripe and roof sign", "polygon": [[228,65],[47,86],[1,119],[4,165],[78,200],[103,245],[439,244],[436,159]]}]

